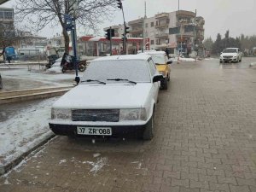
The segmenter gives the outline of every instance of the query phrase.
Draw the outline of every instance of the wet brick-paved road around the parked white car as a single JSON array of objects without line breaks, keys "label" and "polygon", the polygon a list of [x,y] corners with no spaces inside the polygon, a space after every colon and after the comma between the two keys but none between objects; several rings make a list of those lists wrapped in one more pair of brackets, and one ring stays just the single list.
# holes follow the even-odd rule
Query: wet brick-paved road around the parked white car
[{"label": "wet brick-paved road around the parked white car", "polygon": [[256,191],[253,61],[173,64],[152,141],[55,137],[0,191]]}]

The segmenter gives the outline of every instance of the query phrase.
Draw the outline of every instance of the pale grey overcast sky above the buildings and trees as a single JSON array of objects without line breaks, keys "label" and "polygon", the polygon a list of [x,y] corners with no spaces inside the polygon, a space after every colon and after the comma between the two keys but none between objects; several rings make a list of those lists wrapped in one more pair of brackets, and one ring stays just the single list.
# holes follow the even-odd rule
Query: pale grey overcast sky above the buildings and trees
[{"label": "pale grey overcast sky above the buildings and trees", "polygon": [[[144,2],[147,3],[147,16],[152,17],[157,13],[172,12],[178,9],[178,0],[124,0],[125,20],[136,20],[144,15]],[[222,36],[230,30],[231,37],[245,35],[256,35],[256,0],[179,0],[180,9],[194,11],[202,16],[205,21],[205,38],[216,39],[217,33]],[[12,7],[15,0],[4,3],[2,7]],[[113,15],[113,20],[106,20],[100,26],[99,34],[103,35],[103,28],[123,23],[121,11]],[[47,27],[39,35],[52,37],[58,29]],[[79,34],[87,32],[80,28]]]}]

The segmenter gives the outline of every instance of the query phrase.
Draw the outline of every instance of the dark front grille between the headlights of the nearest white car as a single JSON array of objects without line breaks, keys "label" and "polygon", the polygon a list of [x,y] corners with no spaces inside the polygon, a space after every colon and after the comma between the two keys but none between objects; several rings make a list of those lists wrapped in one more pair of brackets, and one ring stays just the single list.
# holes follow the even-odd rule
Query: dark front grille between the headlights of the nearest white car
[{"label": "dark front grille between the headlights of the nearest white car", "polygon": [[119,109],[76,109],[72,110],[73,121],[119,121]]}]

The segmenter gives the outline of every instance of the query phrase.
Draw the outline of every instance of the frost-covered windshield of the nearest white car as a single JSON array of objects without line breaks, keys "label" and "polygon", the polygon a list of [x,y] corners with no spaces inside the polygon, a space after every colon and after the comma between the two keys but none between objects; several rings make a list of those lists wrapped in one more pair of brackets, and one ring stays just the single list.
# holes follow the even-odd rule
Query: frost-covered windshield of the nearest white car
[{"label": "frost-covered windshield of the nearest white car", "polygon": [[[110,81],[108,79],[129,79],[137,83],[151,82],[147,61],[143,60],[91,61],[81,81],[86,81],[87,79],[96,79],[108,82],[108,84],[125,82]],[[84,83],[86,84],[87,82]]]}]

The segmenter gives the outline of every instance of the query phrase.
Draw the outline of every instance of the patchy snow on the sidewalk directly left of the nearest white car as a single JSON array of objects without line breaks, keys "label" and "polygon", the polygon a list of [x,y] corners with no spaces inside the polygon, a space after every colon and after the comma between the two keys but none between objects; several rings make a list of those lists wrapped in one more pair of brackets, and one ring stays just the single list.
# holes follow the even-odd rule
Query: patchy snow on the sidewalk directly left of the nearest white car
[{"label": "patchy snow on the sidewalk directly left of the nearest white car", "polygon": [[57,98],[23,108],[0,124],[0,166],[15,160],[53,133],[49,130],[50,108]]}]

